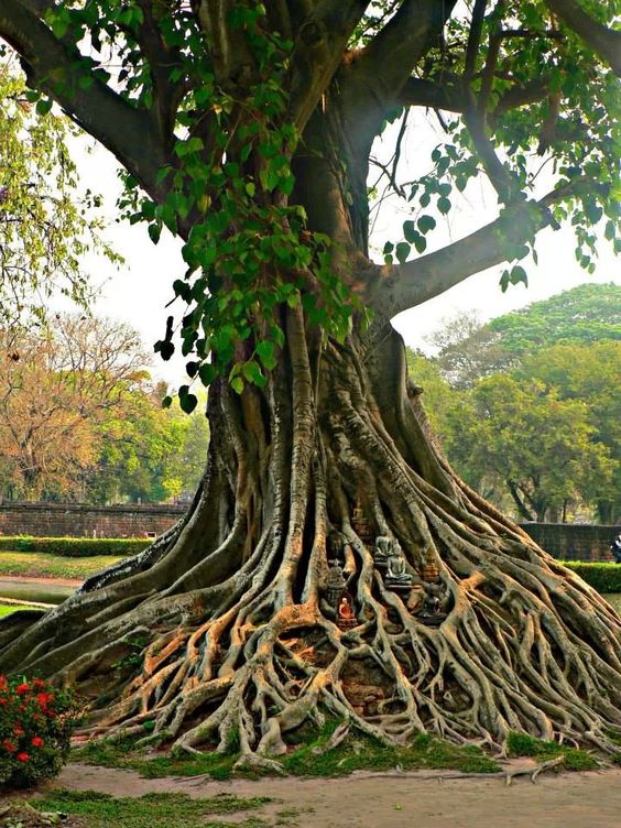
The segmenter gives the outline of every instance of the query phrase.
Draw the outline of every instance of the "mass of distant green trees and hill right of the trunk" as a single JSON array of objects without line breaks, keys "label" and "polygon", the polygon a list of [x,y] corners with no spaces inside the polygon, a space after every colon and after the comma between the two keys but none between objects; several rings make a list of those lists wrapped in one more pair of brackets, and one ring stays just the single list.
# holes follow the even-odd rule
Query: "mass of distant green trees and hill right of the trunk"
[{"label": "mass of distant green trees and hill right of the trunk", "polygon": [[620,513],[620,307],[621,287],[581,285],[487,325],[461,315],[431,337],[437,357],[408,356],[451,464],[523,520]]}]

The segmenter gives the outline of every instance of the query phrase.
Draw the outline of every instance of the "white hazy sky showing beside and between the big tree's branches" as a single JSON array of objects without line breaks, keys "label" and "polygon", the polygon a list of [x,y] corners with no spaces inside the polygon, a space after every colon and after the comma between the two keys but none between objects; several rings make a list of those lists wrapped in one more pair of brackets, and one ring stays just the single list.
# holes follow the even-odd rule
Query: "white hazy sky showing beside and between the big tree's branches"
[{"label": "white hazy sky showing beside and between the big tree's branches", "polygon": [[[408,168],[420,173],[421,163],[425,170],[431,150],[442,140],[439,131],[426,120],[413,122],[402,154],[401,164],[405,175]],[[390,145],[389,135],[384,145],[377,148],[378,155],[385,159],[386,152],[390,153]],[[120,318],[131,324],[142,334],[146,346],[151,348],[164,333],[166,316],[176,312],[177,318],[182,312],[181,304],[165,308],[172,298],[173,280],[184,272],[181,242],[164,232],[160,243],[154,246],[144,226],[116,222],[115,201],[120,190],[118,164],[106,150],[92,146],[92,142],[88,143],[91,148],[89,153],[85,151],[86,146],[85,139],[74,151],[81,182],[85,187],[103,195],[106,211],[110,217],[107,238],[126,259],[126,264],[120,270],[96,257],[89,258],[86,262],[92,282],[101,285],[94,309],[100,315]],[[429,251],[466,236],[495,217],[495,199],[482,185],[469,186],[466,196],[450,210],[447,219],[438,220],[438,228],[432,235]],[[386,239],[400,241],[403,221],[411,217],[403,207],[388,203],[374,222],[371,237],[373,248],[381,250]],[[394,319],[394,325],[407,345],[428,349],[425,337],[437,329],[444,319],[455,316],[458,312],[476,310],[482,319],[488,319],[531,302],[547,298],[582,282],[614,281],[621,284],[619,261],[615,260],[608,242],[602,240],[600,244],[599,262],[592,276],[579,268],[574,249],[574,235],[569,227],[556,232],[546,229],[538,237],[538,265],[527,260],[527,288],[522,284],[510,286],[503,294],[499,286],[503,268],[491,268],[471,276],[442,296],[400,314]],[[381,259],[379,252],[377,258]],[[166,363],[155,355],[153,369],[154,374],[172,383],[178,383],[184,375],[181,360],[173,359]]]}]

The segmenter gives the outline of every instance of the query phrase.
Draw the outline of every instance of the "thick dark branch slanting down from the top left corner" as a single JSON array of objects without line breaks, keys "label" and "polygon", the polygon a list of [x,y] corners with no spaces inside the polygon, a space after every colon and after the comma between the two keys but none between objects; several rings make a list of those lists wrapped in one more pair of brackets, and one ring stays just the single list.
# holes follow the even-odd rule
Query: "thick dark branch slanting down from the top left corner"
[{"label": "thick dark branch slanting down from the top left corner", "polygon": [[[149,113],[113,92],[80,63],[33,13],[33,0],[0,0],[0,37],[25,64],[29,84],[54,98],[100,141],[151,195],[157,196],[159,170],[168,163]],[[44,3],[40,3],[44,8]],[[89,86],[80,81],[88,76]],[[161,196],[161,194],[160,194]]]}]

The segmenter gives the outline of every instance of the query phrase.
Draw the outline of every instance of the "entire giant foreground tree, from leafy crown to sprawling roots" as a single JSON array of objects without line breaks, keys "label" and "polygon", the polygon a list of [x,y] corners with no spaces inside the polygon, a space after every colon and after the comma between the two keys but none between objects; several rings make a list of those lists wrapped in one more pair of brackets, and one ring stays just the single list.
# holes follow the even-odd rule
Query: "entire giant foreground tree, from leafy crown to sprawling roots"
[{"label": "entire giant foreground tree, from leafy crown to sprawling roots", "polygon": [[[211,431],[186,518],[54,612],[13,617],[1,668],[79,685],[95,729],[154,721],[179,748],[236,741],[244,762],[283,751],[320,709],[389,741],[525,730],[606,749],[621,723],[618,618],[450,470],[390,319],[522,258],[568,215],[587,266],[602,215],[614,236],[609,14],[541,0],[0,0],[29,84],[127,171],[130,220],[185,239],[173,287]],[[405,186],[396,129],[395,186],[444,214],[451,183],[484,174],[499,215],[410,258],[436,225],[416,215],[378,264],[370,154],[415,107],[437,110],[447,139]],[[543,194],[536,150],[554,160]],[[503,284],[523,279],[512,264]],[[173,335],[171,318],[164,357]],[[188,385],[179,401],[196,404]],[[349,592],[339,618],[330,555]],[[142,668],[110,671],[139,636]]]}]

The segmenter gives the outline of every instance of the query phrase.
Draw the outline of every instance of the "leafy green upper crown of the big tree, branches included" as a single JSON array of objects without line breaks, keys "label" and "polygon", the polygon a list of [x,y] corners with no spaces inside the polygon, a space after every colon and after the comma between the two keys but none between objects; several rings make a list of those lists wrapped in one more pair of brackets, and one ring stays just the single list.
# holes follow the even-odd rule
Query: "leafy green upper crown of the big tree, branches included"
[{"label": "leafy green upper crown of the big tree, branches included", "polygon": [[[344,337],[360,302],[391,317],[520,261],[540,229],[568,215],[579,261],[592,266],[595,227],[604,221],[614,241],[618,221],[613,14],[567,0],[2,0],[0,34],[43,95],[40,111],[56,100],[119,159],[130,220],[146,221],[154,241],[163,226],[185,239],[188,270],[173,288],[186,305],[189,378],[208,384],[226,371],[241,390],[264,384],[274,364],[280,303],[303,301],[312,322]],[[446,139],[407,185],[386,168],[413,216],[374,264],[369,153],[413,107],[443,113]],[[334,153],[316,128],[333,111],[348,140],[326,165]],[[542,194],[543,166],[554,174]],[[322,182],[315,204],[304,198],[309,173]],[[410,260],[433,240],[432,208],[447,214],[481,174],[498,219]],[[322,216],[322,203],[340,203],[338,217]],[[525,277],[514,263],[502,285]],[[164,358],[173,330],[171,317]],[[187,385],[179,395],[196,404]]]}]

